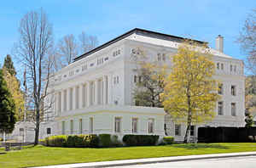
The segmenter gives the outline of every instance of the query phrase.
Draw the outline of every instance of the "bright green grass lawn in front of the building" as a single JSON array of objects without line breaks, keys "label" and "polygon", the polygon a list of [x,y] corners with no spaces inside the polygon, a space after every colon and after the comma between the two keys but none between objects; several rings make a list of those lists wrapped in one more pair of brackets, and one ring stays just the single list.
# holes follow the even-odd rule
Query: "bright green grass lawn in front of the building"
[{"label": "bright green grass lawn in front of the building", "polygon": [[52,148],[31,146],[9,152],[5,152],[3,148],[0,148],[0,167],[15,168],[248,151],[256,151],[256,143],[198,143],[130,148]]}]

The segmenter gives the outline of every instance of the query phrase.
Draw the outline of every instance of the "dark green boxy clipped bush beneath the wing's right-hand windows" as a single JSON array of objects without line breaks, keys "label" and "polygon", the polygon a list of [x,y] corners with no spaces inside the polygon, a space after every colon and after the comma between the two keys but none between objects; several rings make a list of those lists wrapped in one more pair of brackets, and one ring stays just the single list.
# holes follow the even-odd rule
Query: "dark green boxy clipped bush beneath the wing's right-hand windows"
[{"label": "dark green boxy clipped bush beneath the wing's right-hand windows", "polygon": [[126,146],[150,146],[158,142],[156,135],[125,135],[123,142]]}]

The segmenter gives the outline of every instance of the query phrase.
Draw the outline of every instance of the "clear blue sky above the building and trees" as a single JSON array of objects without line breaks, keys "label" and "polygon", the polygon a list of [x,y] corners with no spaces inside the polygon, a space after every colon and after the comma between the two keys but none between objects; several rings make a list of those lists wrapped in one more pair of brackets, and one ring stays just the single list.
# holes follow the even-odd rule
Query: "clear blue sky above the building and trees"
[{"label": "clear blue sky above the building and trees", "polygon": [[[244,59],[235,42],[255,0],[22,0],[0,5],[0,64],[17,42],[20,19],[44,8],[54,26],[55,40],[85,31],[108,42],[135,27],[210,42],[224,36],[224,53]],[[17,67],[18,64],[15,63]]]}]

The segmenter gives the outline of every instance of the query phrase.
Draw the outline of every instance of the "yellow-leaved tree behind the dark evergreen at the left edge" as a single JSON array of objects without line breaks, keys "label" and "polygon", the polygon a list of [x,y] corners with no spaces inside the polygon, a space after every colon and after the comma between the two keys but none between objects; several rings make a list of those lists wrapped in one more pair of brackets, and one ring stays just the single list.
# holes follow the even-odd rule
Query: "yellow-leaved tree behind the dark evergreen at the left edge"
[{"label": "yellow-leaved tree behind the dark evergreen at the left edge", "polygon": [[3,66],[3,78],[7,83],[9,92],[15,101],[15,116],[17,120],[24,119],[24,94],[20,90],[20,81],[9,73],[9,70]]}]

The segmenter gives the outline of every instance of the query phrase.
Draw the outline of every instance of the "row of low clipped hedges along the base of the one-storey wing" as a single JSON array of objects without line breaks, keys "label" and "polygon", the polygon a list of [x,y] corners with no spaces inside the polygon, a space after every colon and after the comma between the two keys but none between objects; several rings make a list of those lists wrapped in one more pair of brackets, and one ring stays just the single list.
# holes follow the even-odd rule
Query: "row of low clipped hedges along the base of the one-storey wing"
[{"label": "row of low clipped hedges along the base of the one-storey wing", "polygon": [[[159,136],[156,135],[125,135],[123,143],[125,146],[152,146],[158,143]],[[173,143],[173,137],[164,137],[166,144]],[[123,146],[118,136],[110,134],[100,135],[59,135],[46,137],[44,144],[50,147],[69,148],[98,148]]]}]

